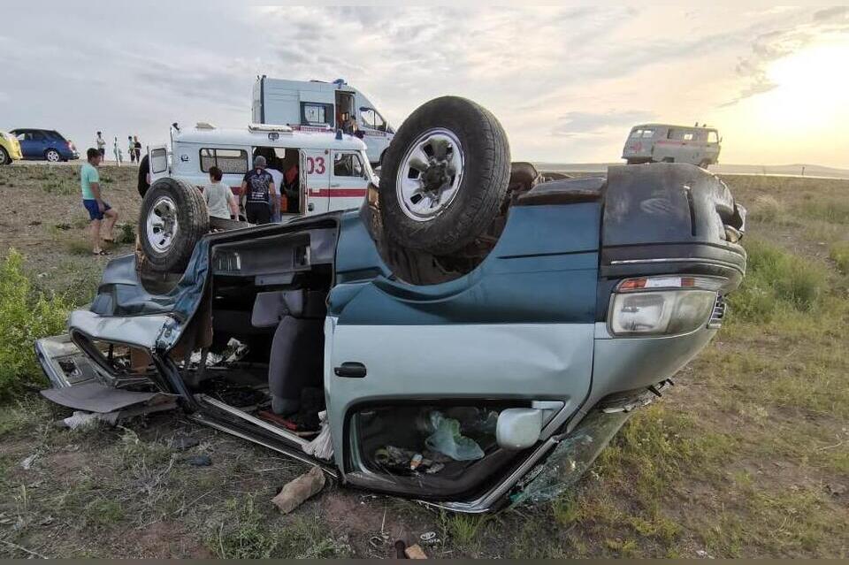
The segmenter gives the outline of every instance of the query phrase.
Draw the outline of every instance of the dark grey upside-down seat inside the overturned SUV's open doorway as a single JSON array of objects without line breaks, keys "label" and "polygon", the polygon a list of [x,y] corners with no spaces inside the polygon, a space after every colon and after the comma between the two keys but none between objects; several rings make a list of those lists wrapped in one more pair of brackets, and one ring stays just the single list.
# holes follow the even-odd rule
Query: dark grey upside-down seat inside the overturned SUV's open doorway
[{"label": "dark grey upside-down seat inside the overturned SUV's open doorway", "polygon": [[304,387],[322,387],[325,297],[324,292],[305,289],[256,295],[251,324],[277,325],[268,363],[268,388],[275,414],[294,414],[301,406]]}]

